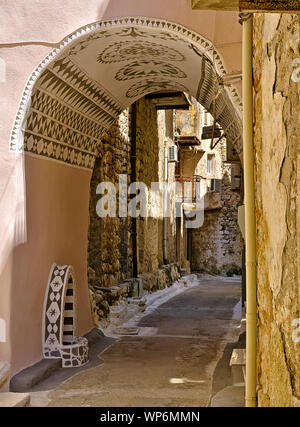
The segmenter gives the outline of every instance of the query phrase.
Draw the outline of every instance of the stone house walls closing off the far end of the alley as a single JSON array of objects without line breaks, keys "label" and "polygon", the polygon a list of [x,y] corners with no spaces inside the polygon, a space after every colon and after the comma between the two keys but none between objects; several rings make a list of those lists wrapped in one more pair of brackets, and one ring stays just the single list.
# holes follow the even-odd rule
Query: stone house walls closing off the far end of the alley
[{"label": "stone house walls closing off the far end of the alley", "polygon": [[[177,112],[176,122],[184,127],[182,135],[201,136],[204,114],[202,107],[193,104],[190,112]],[[212,123],[212,118],[207,118]],[[214,140],[216,142],[217,139]],[[208,156],[214,158],[212,174],[207,170]],[[241,203],[240,190],[231,188],[231,165],[226,160],[226,140],[223,138],[211,149],[210,139],[201,139],[199,147],[181,148],[180,174],[199,175],[209,185],[211,178],[221,180],[220,192],[204,195],[204,223],[192,230],[191,269],[213,274],[240,274],[242,267],[242,237],[237,222],[236,205]]]}]

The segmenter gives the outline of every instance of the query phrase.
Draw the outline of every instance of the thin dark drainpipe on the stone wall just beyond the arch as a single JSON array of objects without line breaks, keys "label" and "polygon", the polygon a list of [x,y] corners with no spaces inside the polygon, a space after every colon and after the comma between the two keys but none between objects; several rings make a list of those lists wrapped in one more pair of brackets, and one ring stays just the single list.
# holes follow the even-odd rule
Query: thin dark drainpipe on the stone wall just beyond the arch
[{"label": "thin dark drainpipe on the stone wall just beyond the arch", "polygon": [[[131,166],[131,182],[136,182],[136,102],[131,106],[130,120],[130,166]],[[134,195],[132,195],[134,197]],[[131,239],[132,239],[132,267],[133,277],[138,277],[138,259],[137,259],[137,222],[136,218],[131,218]]]}]

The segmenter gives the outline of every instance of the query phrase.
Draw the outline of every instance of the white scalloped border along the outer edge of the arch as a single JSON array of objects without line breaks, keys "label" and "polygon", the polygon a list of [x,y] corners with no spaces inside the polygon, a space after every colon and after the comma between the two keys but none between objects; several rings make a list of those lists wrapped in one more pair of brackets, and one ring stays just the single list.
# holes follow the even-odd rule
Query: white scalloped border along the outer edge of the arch
[{"label": "white scalloped border along the outer edge of the arch", "polygon": [[[122,17],[105,21],[96,21],[94,23],[84,25],[69,34],[68,36],[64,37],[61,42],[58,43],[58,46],[52,49],[52,51],[40,62],[40,64],[31,73],[23,90],[21,101],[18,106],[16,118],[11,131],[9,151],[22,151],[22,130],[24,130],[23,128],[26,122],[26,115],[30,107],[31,93],[36,81],[38,80],[42,72],[47,68],[47,66],[59,55],[66,52],[66,50],[69,49],[72,44],[75,44],[77,41],[79,41],[81,37],[84,37],[88,34],[92,34],[93,32],[97,32],[104,28],[122,27],[126,25],[154,29],[165,29],[170,31],[171,33],[176,33],[180,35],[183,39],[189,40],[196,47],[198,47],[201,53],[203,55],[206,55],[206,57],[210,59],[210,61],[215,67],[216,72],[221,77],[224,77],[224,75],[226,74],[224,60],[221,54],[214,47],[213,43],[211,43],[209,40],[207,40],[205,37],[201,36],[197,32],[190,30],[180,24],[176,24],[174,22],[164,19],[148,17]],[[238,93],[237,89],[231,85],[225,87],[225,90],[229,95],[229,98],[232,102],[232,106],[237,112],[238,117],[241,118],[242,101],[240,94]]]}]

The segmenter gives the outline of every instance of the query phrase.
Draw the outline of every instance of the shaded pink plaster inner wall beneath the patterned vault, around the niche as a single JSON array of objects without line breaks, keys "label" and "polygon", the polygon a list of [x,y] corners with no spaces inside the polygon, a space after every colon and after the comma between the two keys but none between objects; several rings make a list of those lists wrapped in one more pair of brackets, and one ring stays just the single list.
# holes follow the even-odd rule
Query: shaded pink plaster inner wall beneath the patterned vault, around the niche
[{"label": "shaded pink plaster inner wall beneath the patterned vault, around the niche", "polygon": [[92,328],[86,274],[91,173],[26,155],[25,176],[27,241],[13,250],[11,263],[15,371],[42,358],[43,301],[53,262],[74,266],[76,334]]}]

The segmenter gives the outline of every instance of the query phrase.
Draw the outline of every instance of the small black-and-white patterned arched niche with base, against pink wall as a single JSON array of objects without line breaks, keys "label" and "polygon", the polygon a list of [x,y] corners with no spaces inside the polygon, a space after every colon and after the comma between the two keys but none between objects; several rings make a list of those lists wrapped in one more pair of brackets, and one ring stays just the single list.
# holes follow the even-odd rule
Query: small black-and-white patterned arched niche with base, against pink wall
[{"label": "small black-and-white patterned arched niche with base, against pink wall", "polygon": [[43,355],[63,367],[88,362],[88,341],[75,336],[75,281],[70,265],[52,265],[43,311]]}]

